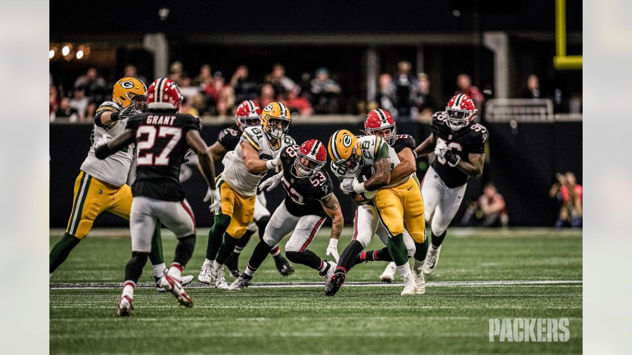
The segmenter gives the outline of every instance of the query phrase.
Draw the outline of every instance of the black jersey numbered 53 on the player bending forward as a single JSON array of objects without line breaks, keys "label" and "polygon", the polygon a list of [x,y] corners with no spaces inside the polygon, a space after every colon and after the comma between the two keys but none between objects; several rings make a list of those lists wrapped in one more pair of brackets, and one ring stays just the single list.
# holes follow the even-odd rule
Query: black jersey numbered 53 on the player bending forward
[{"label": "black jersey numbered 53 on the player bending forward", "polygon": [[329,178],[329,174],[322,169],[312,178],[296,178],[294,162],[298,157],[298,148],[296,144],[288,145],[281,152],[281,164],[283,164],[281,183],[288,193],[284,202],[285,207],[296,217],[304,215],[327,217],[320,200],[334,191],[334,183]]}]

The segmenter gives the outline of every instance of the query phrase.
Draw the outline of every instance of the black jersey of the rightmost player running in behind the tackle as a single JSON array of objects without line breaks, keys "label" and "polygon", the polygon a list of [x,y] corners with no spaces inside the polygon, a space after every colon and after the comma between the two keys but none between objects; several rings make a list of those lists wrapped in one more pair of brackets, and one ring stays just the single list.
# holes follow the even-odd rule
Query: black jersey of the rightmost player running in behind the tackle
[{"label": "black jersey of the rightmost player running in behind the tackle", "polygon": [[[446,112],[435,112],[432,116],[432,135],[435,141],[443,140],[448,148],[461,160],[468,160],[470,153],[484,153],[488,138],[487,128],[480,123],[470,123],[454,132],[446,124]],[[449,188],[457,188],[468,182],[470,176],[458,167],[451,167],[446,159],[436,157],[432,168]]]}]

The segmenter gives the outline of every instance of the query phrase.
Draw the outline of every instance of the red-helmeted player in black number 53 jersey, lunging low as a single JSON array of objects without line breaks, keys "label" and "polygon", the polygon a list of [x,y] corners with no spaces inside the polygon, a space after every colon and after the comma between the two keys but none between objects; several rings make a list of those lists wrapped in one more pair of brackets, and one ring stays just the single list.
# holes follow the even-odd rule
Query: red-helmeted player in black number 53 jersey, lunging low
[{"label": "red-helmeted player in black number 53 jersey, lunging low", "polygon": [[336,246],[344,221],[338,199],[333,193],[334,184],[329,174],[322,170],[327,162],[325,145],[317,140],[308,140],[300,147],[288,145],[280,157],[283,171],[265,180],[261,186],[267,186],[267,191],[270,191],[279,181],[283,183],[287,192],[284,203],[272,214],[265,228],[264,239],[253,251],[246,271],[234,280],[228,287],[229,290],[241,290],[248,286],[270,248],[276,246],[291,231],[294,232],[285,244],[288,259],[317,270],[324,277],[325,283],[334,275],[335,262],[322,260],[307,249],[325,218],[329,216],[332,226],[327,255],[332,255],[336,260],[338,258]]}]

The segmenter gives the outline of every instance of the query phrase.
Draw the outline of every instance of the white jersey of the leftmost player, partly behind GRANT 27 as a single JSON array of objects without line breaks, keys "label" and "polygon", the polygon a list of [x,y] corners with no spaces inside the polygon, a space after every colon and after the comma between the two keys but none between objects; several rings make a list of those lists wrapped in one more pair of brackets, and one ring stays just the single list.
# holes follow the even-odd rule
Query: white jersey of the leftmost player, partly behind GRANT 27
[{"label": "white jersey of the leftmost player, partly behind GRANT 27", "polygon": [[[99,111],[116,112],[121,111],[121,107],[116,102],[106,101],[99,106],[97,112]],[[114,186],[123,186],[125,184],[128,172],[130,172],[131,160],[134,157],[134,143],[103,160],[94,156],[94,150],[99,145],[105,144],[107,141],[125,132],[127,120],[121,119],[107,127],[99,127],[96,124],[92,127],[90,151],[88,151],[88,156],[81,165],[83,171],[100,181]]]}]

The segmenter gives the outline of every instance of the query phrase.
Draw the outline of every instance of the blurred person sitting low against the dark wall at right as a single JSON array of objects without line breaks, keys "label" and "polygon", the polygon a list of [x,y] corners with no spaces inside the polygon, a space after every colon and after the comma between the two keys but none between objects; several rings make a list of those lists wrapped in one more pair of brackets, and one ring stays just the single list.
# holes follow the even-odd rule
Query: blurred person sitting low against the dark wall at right
[{"label": "blurred person sitting low against the dark wall at right", "polygon": [[493,183],[485,185],[483,195],[476,202],[470,202],[461,219],[461,225],[482,227],[507,227],[509,225],[505,199],[498,193]]}]

